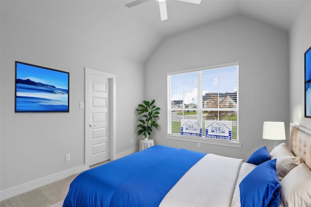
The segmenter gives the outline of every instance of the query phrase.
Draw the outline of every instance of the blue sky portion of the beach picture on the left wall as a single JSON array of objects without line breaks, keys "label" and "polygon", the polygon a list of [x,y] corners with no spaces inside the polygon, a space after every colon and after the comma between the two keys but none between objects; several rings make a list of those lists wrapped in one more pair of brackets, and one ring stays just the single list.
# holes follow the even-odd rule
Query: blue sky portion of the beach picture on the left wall
[{"label": "blue sky portion of the beach picture on the left wall", "polygon": [[30,79],[62,89],[68,89],[69,85],[69,73],[21,63],[16,65],[16,78]]}]

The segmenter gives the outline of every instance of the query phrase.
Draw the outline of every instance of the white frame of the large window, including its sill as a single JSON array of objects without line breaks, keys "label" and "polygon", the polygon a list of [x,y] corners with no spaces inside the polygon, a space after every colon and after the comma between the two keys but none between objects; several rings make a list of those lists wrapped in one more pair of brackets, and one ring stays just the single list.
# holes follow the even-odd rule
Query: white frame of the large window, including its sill
[{"label": "white frame of the large window, including its sill", "polygon": [[[238,74],[237,74],[237,84],[238,84],[238,90],[237,90],[237,108],[235,108],[235,110],[232,111],[237,111],[237,140],[218,140],[218,139],[210,139],[210,138],[201,138],[201,137],[194,137],[194,136],[185,136],[185,135],[180,135],[180,134],[173,134],[173,133],[169,133],[172,132],[172,124],[169,124],[172,121],[172,110],[173,108],[172,106],[172,100],[171,100],[171,76],[173,75],[179,75],[179,74],[185,74],[185,73],[191,73],[191,72],[202,72],[202,71],[206,71],[206,70],[212,70],[212,69],[221,69],[221,68],[225,68],[225,67],[232,67],[232,66],[237,66],[238,67]],[[198,143],[197,147],[200,147],[199,143],[207,143],[207,144],[215,144],[215,145],[222,145],[222,146],[231,146],[231,147],[238,147],[241,148],[241,143],[240,143],[240,139],[239,139],[239,66],[240,66],[240,62],[234,62],[234,63],[227,63],[227,64],[218,64],[218,65],[213,65],[213,66],[205,66],[205,67],[199,67],[199,68],[193,68],[193,69],[188,69],[188,70],[182,70],[182,71],[175,71],[175,72],[170,72],[167,73],[167,123],[168,123],[168,130],[167,130],[167,134],[166,134],[166,138],[167,139],[172,139],[172,140],[181,140],[181,141],[188,141],[188,142],[195,142]],[[202,76],[202,73],[199,73]],[[201,79],[198,78],[198,87],[199,84],[202,83],[202,77]],[[202,85],[202,84],[201,84]],[[201,89],[202,91],[202,89]],[[202,96],[200,95],[200,93],[198,93],[198,97]],[[202,97],[203,98],[203,97]],[[202,99],[201,99],[202,100]],[[198,111],[201,111],[201,113],[203,111],[205,111],[206,108],[203,108],[203,102],[198,101]],[[217,108],[217,110],[219,110],[221,108]],[[228,110],[227,108],[224,108],[225,110]],[[210,110],[210,109],[209,109]],[[202,119],[202,117],[200,117]],[[199,118],[198,118],[199,119]],[[203,121],[203,119],[201,120]],[[172,123],[172,122],[171,122]]]}]

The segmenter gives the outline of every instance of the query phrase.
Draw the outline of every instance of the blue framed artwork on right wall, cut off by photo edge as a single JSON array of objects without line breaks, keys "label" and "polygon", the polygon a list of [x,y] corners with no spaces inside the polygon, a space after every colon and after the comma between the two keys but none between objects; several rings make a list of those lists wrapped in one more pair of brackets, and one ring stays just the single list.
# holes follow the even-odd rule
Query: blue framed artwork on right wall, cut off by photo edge
[{"label": "blue framed artwork on right wall, cut off by photo edge", "polygon": [[311,118],[311,47],[305,52],[305,117]]}]

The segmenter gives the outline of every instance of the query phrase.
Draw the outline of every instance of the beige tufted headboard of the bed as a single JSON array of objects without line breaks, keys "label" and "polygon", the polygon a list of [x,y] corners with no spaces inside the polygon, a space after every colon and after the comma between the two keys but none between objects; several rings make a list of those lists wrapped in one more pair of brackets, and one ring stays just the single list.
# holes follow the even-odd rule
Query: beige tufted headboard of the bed
[{"label": "beige tufted headboard of the bed", "polygon": [[293,154],[301,157],[300,161],[306,163],[311,169],[311,135],[293,126],[291,128],[291,149]]}]

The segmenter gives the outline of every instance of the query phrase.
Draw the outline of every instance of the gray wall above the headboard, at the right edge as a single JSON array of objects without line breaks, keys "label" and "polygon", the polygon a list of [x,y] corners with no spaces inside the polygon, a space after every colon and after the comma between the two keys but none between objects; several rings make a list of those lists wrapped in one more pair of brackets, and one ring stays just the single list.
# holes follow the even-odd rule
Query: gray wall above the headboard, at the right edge
[{"label": "gray wall above the headboard, at the right edge", "polygon": [[311,2],[305,1],[290,32],[290,121],[311,128],[305,118],[304,52],[311,46]]}]

